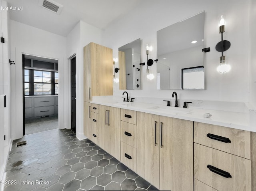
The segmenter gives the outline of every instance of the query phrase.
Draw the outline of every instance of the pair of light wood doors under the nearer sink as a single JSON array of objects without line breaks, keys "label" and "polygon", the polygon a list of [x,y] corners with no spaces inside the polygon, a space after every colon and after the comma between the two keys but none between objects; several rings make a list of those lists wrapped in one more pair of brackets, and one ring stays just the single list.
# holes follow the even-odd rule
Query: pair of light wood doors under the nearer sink
[{"label": "pair of light wood doors under the nearer sink", "polygon": [[193,191],[193,122],[137,112],[137,173],[160,190]]}]

